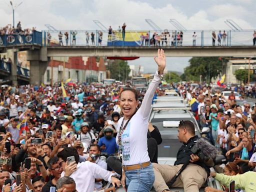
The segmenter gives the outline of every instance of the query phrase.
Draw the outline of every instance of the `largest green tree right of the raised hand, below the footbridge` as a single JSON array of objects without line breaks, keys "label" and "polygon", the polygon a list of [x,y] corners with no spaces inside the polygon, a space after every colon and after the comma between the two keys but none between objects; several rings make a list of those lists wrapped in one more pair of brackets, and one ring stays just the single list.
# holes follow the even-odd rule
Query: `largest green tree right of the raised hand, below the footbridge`
[{"label": "largest green tree right of the raised hand, below the footbridge", "polygon": [[222,71],[222,62],[218,57],[192,57],[189,62],[190,65],[184,69],[186,80],[199,80],[202,75],[209,81]]}]

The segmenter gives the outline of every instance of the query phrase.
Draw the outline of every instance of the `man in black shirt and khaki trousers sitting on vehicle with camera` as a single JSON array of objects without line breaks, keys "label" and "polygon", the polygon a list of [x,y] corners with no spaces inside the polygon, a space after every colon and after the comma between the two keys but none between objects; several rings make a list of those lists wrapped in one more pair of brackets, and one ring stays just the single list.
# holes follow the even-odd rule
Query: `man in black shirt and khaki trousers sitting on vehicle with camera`
[{"label": "man in black shirt and khaki trousers sitting on vehicle with camera", "polygon": [[214,164],[211,158],[205,162],[199,159],[199,156],[192,153],[191,148],[196,144],[198,136],[195,135],[194,124],[191,121],[180,121],[177,137],[183,142],[183,145],[177,152],[177,160],[174,165],[153,163],[155,174],[153,186],[157,192],[170,191],[166,183],[173,178],[188,159],[189,164],[180,173],[172,186],[183,187],[184,191],[199,191],[199,188],[206,181],[210,173],[209,167]]}]

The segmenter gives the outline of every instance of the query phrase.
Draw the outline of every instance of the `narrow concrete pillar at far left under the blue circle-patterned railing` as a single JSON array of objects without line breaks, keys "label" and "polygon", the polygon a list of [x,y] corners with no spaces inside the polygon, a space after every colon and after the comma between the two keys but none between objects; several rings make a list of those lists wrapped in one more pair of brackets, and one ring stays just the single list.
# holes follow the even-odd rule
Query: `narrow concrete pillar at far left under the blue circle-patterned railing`
[{"label": "narrow concrete pillar at far left under the blue circle-patterned railing", "polygon": [[16,86],[18,84],[17,81],[17,50],[16,49],[8,49],[7,50],[7,58],[11,59],[11,75],[9,79],[11,80],[11,84]]}]

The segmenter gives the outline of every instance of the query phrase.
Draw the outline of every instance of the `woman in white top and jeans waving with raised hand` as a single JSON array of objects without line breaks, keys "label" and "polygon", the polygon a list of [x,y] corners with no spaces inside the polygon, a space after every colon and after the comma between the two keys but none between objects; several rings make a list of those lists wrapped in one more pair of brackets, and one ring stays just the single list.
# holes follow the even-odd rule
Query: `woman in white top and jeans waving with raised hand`
[{"label": "woman in white top and jeans waving with raised hand", "polygon": [[116,142],[122,157],[121,184],[127,191],[149,191],[154,182],[154,172],[147,152],[147,127],[151,101],[163,76],[166,60],[162,49],[154,57],[158,69],[144,95],[139,109],[135,89],[124,88],[120,92],[119,104],[123,117],[118,120]]}]

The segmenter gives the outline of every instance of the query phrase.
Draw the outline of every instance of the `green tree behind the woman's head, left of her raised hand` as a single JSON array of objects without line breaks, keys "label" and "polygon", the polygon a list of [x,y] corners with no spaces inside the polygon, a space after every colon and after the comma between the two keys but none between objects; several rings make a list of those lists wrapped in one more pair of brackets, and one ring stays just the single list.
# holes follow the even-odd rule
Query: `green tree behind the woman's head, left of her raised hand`
[{"label": "green tree behind the woman's head, left of her raised hand", "polygon": [[109,60],[106,68],[110,71],[110,78],[121,81],[128,79],[130,67],[126,60]]}]

